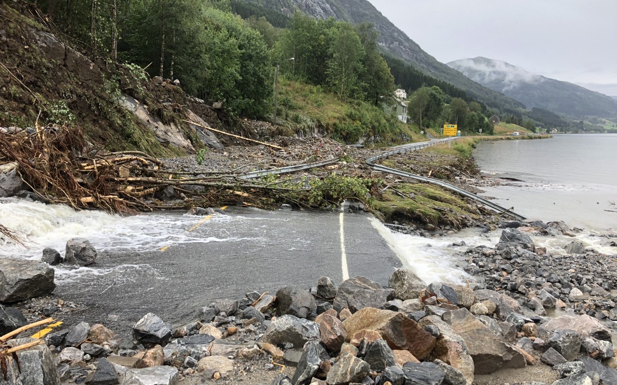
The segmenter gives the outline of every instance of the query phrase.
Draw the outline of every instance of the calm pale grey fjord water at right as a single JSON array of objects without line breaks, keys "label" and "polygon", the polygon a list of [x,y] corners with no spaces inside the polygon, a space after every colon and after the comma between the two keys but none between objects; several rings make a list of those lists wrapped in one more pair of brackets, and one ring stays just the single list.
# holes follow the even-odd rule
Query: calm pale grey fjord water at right
[{"label": "calm pale grey fjord water at right", "polygon": [[617,134],[481,142],[474,157],[486,174],[523,180],[482,188],[499,205],[571,227],[617,229]]}]

